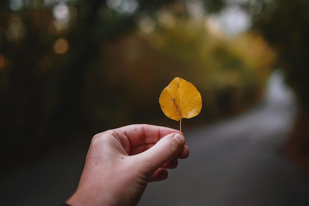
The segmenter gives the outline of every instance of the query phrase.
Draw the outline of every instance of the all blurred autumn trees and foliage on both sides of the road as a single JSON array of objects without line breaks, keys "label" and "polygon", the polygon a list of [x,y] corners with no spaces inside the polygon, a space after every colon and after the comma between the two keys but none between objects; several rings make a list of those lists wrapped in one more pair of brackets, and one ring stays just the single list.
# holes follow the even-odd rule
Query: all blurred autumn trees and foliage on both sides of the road
[{"label": "all blurred autumn trees and foliage on both sides of the road", "polygon": [[244,114],[277,68],[299,108],[286,151],[307,168],[308,11],[305,0],[1,0],[1,173],[85,151],[110,128],[178,128],[158,104],[174,77],[202,95],[185,131]]}]

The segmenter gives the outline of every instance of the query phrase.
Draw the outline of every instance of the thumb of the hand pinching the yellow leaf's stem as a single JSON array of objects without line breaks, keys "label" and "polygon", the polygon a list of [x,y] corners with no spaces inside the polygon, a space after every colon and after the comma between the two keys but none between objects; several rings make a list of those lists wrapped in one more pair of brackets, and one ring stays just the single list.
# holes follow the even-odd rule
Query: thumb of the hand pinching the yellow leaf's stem
[{"label": "thumb of the hand pinching the yellow leaf's stem", "polygon": [[162,137],[150,149],[138,154],[138,161],[142,163],[146,172],[152,174],[161,165],[177,157],[184,146],[184,135],[176,132],[171,133]]}]

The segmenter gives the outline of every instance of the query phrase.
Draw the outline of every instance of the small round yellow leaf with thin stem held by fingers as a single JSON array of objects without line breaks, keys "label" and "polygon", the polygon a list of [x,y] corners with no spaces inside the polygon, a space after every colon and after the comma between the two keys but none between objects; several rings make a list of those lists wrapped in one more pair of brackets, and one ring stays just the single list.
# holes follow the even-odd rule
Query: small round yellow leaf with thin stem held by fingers
[{"label": "small round yellow leaf with thin stem held by fingers", "polygon": [[196,87],[179,77],[170,82],[161,92],[159,104],[164,115],[172,120],[193,118],[202,109],[202,97]]}]

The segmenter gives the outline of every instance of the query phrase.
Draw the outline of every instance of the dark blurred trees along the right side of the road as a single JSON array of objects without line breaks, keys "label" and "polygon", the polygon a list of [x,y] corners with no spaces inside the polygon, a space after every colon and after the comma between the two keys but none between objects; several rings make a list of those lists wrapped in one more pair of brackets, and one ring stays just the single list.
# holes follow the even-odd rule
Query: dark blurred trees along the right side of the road
[{"label": "dark blurred trees along the right side of the road", "polygon": [[249,6],[254,27],[278,53],[277,66],[295,91],[299,112],[287,145],[289,155],[309,169],[309,1],[262,0]]}]

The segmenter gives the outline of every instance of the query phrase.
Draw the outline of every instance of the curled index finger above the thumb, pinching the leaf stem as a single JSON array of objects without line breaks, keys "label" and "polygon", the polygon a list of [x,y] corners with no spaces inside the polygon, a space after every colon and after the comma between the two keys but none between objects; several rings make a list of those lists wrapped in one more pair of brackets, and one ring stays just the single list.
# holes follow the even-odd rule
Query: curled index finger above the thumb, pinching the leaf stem
[{"label": "curled index finger above the thumb, pinching the leaf stem", "polygon": [[177,129],[151,124],[131,124],[120,127],[119,131],[128,138],[130,147],[154,144],[167,134],[180,132]]}]

